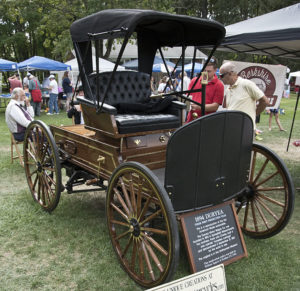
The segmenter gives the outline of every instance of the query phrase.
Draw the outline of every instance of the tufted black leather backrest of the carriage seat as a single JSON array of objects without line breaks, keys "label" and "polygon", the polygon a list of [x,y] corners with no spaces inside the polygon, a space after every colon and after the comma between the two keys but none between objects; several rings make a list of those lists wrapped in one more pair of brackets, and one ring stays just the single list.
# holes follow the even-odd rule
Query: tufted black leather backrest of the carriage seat
[{"label": "tufted black leather backrest of the carriage seat", "polygon": [[[102,72],[97,78],[96,73],[89,75],[89,82],[94,96],[99,82],[100,100],[102,101],[110,79],[111,72]],[[105,103],[115,106],[119,103],[144,103],[151,95],[150,75],[136,71],[115,72],[110,84]],[[92,99],[90,96],[85,96]]]}]

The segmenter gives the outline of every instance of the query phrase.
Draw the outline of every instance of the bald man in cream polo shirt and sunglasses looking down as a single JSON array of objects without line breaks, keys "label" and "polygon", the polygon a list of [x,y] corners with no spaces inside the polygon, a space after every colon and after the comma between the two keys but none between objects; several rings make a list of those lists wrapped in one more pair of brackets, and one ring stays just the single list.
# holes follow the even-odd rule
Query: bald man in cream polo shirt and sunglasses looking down
[{"label": "bald man in cream polo shirt and sunglasses looking down", "polygon": [[268,98],[254,82],[239,77],[232,62],[226,62],[220,67],[220,78],[224,85],[229,85],[225,90],[223,107],[247,113],[255,129],[256,116],[269,105]]}]

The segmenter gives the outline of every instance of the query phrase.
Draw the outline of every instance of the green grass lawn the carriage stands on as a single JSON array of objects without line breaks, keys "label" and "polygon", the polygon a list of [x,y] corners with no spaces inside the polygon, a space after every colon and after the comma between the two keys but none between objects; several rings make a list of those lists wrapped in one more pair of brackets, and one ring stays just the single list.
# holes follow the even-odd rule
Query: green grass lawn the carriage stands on
[{"label": "green grass lawn the carriage stands on", "polygon": [[[300,147],[287,140],[296,96],[283,99],[280,120],[286,132],[262,114],[261,144],[286,163],[296,191],[288,226],[266,240],[245,237],[248,258],[225,267],[228,290],[300,290]],[[65,113],[38,118],[47,124],[71,124]],[[105,193],[62,193],[58,207],[45,213],[33,201],[24,169],[10,162],[10,134],[0,109],[0,290],[140,290],[120,267],[105,218]],[[300,112],[292,141],[300,139]],[[175,278],[189,274],[184,243]]]}]

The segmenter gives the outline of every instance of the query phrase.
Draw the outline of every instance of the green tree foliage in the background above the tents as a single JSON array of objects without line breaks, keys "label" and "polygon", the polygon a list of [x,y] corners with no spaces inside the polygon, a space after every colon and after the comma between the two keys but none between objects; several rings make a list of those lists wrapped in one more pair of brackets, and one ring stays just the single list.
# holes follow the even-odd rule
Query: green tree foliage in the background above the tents
[{"label": "green tree foliage in the background above the tents", "polygon": [[295,3],[298,0],[0,0],[0,57],[21,62],[40,55],[67,61],[72,58],[72,22],[103,9],[152,9],[228,25]]}]

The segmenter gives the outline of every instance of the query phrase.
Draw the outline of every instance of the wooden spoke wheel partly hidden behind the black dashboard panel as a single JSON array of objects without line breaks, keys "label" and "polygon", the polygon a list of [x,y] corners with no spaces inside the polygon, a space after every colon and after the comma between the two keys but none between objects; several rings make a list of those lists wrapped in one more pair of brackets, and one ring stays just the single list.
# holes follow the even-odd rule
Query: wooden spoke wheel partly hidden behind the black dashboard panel
[{"label": "wooden spoke wheel partly hidden behind the black dashboard panel", "polygon": [[236,203],[240,225],[253,238],[268,238],[288,223],[294,208],[294,186],[281,159],[253,144],[247,190]]}]

